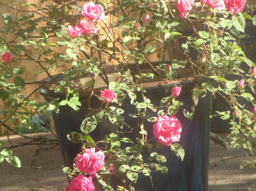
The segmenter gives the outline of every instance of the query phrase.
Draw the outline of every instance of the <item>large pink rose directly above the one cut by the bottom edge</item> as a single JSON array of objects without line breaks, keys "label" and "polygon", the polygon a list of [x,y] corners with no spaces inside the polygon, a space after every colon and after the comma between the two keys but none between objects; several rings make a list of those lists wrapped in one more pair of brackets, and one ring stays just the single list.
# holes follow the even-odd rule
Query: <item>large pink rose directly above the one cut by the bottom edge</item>
[{"label": "large pink rose directly above the one cut by the bottom edge", "polygon": [[94,174],[103,167],[104,158],[105,155],[101,150],[95,152],[95,148],[88,150],[85,148],[83,155],[78,154],[76,156],[75,163],[80,172]]}]

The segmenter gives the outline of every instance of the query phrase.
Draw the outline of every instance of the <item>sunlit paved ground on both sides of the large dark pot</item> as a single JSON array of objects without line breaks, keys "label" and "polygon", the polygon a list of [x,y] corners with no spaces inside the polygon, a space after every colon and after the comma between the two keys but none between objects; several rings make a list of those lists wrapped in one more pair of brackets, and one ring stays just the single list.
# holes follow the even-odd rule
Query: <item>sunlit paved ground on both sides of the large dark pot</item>
[{"label": "sunlit paved ground on both sides of the large dark pot", "polygon": [[[45,135],[54,138],[51,134]],[[218,135],[226,138],[227,134]],[[19,136],[14,135],[11,138],[14,145],[28,141],[15,137]],[[0,137],[1,140],[6,142],[5,146],[9,146],[6,139]],[[31,167],[36,150],[38,146],[13,148],[13,155],[18,156],[22,167],[14,168],[6,162],[0,164],[0,191],[64,190],[68,181],[61,169],[59,146],[40,152]],[[234,155],[240,156],[225,159]],[[255,191],[253,184],[256,184],[256,169],[240,168],[244,156],[242,149],[230,151],[210,141],[209,191]]]}]

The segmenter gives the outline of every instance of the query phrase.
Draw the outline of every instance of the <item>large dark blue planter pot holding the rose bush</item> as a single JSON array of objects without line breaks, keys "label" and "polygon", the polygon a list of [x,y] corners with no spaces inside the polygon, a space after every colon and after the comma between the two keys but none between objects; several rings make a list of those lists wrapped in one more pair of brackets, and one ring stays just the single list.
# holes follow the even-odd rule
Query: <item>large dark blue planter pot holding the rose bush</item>
[{"label": "large dark blue planter pot holding the rose bush", "polygon": [[[156,106],[160,104],[160,100],[164,96],[170,95],[170,92],[166,93],[166,86],[175,83],[177,86],[183,85],[181,94],[179,96],[180,101],[183,101],[184,107],[190,109],[193,106],[191,99],[191,88],[195,84],[193,79],[172,80],[172,81],[159,81],[143,84],[143,87],[147,91],[146,97],[149,97],[151,103]],[[200,80],[197,81],[200,83]],[[79,89],[77,89],[79,91]],[[44,96],[44,99],[51,101],[57,97],[65,99],[64,94],[54,94],[47,88],[41,88],[40,94]],[[94,94],[100,94],[99,89],[94,90]],[[81,91],[81,101],[84,101],[85,96]],[[141,99],[137,97],[137,99]],[[86,101],[83,102],[82,108],[79,112],[75,112],[70,107],[60,107],[60,113],[52,113],[53,121],[55,123],[56,134],[60,145],[61,155],[65,166],[72,167],[73,159],[81,151],[81,145],[71,143],[67,139],[67,134],[72,131],[80,131],[80,125],[85,118],[87,112]],[[133,111],[133,105],[127,99],[123,101],[122,109],[124,112],[125,121],[130,126],[136,125],[137,120],[129,117],[130,111]],[[207,94],[204,97],[200,97],[195,107],[195,115],[192,121],[184,117],[182,111],[179,111],[175,116],[181,121],[181,138],[180,144],[185,150],[184,160],[181,161],[176,154],[171,151],[170,147],[158,148],[155,145],[152,147],[151,152],[158,152],[166,156],[168,173],[162,174],[160,171],[152,172],[152,187],[151,179],[149,176],[144,176],[139,173],[137,184],[134,185],[135,190],[208,190],[208,164],[209,164],[209,134],[210,134],[210,112],[211,112],[212,95]],[[91,100],[91,105],[100,104],[100,100],[97,98]],[[150,112],[150,116],[157,116],[157,112]],[[146,121],[144,123],[144,129],[148,132],[147,139],[153,138],[152,126],[154,122]],[[114,128],[114,127],[113,127]],[[125,131],[125,130],[123,130]],[[106,126],[104,122],[97,125],[96,130],[93,131],[92,136],[94,140],[103,139],[105,135],[112,133],[112,127]],[[116,133],[116,131],[115,131]],[[120,135],[122,136],[122,135]],[[127,137],[127,135],[125,135]],[[129,136],[129,135],[128,135]],[[130,135],[131,139],[135,140],[135,137]],[[151,153],[150,152],[150,153]]]}]

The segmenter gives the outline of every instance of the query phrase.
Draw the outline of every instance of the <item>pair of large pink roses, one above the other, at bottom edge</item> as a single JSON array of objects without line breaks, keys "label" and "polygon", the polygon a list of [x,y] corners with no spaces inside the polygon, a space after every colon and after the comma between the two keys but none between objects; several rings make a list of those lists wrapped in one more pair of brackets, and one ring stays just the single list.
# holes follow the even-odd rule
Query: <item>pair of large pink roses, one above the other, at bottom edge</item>
[{"label": "pair of large pink roses, one above the other, at bottom edge", "polygon": [[86,190],[94,191],[95,186],[92,181],[92,176],[95,176],[97,171],[104,166],[105,155],[100,150],[95,152],[95,148],[84,150],[84,154],[78,154],[76,156],[76,167],[80,172],[86,173],[86,175],[91,175],[86,177],[85,175],[79,175],[74,177],[71,180],[71,184],[65,188],[66,191],[77,191],[77,190]]}]

